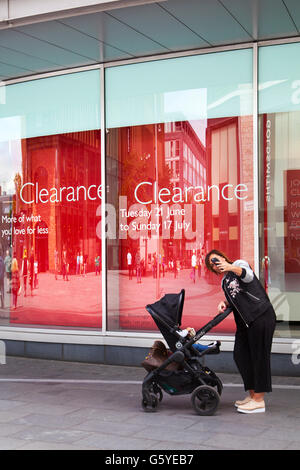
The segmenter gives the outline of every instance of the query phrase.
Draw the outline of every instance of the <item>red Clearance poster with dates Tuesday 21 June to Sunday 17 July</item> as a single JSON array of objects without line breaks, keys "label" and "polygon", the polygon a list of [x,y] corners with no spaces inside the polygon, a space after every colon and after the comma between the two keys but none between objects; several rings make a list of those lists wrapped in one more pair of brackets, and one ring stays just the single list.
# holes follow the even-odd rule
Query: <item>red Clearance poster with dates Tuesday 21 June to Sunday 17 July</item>
[{"label": "red Clearance poster with dates Tuesday 21 June to Sunday 17 July", "polygon": [[[107,148],[108,328],[153,330],[145,309],[185,289],[184,325],[200,328],[223,300],[206,269],[219,249],[253,264],[252,118],[110,129]],[[218,331],[232,333],[231,315]]]}]

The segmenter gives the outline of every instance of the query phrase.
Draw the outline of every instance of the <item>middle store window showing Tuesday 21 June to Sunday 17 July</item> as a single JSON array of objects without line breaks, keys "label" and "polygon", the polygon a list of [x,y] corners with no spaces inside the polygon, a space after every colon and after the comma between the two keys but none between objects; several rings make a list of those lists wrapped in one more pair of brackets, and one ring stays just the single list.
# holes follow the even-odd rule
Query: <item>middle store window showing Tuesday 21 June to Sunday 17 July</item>
[{"label": "middle store window showing Tuesday 21 June to Sunday 17 July", "polygon": [[200,328],[223,298],[205,254],[254,263],[252,50],[105,78],[107,327],[155,330],[145,305],[184,288],[184,325]]}]

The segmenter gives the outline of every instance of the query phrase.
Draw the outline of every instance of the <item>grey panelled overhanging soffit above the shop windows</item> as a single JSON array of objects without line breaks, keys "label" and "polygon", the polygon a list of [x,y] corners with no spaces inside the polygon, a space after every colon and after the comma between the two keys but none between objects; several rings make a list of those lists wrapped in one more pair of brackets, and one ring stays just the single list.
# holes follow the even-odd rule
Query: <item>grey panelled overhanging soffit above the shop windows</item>
[{"label": "grey panelled overhanging soffit above the shop windows", "polygon": [[299,34],[300,0],[167,0],[112,8],[1,29],[0,80]]}]

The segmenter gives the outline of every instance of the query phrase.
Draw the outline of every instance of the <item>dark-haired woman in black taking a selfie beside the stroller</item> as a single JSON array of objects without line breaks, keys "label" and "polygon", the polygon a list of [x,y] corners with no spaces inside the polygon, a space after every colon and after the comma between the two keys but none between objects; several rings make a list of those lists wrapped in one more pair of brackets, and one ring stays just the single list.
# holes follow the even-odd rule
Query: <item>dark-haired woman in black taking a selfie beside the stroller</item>
[{"label": "dark-haired woman in black taking a selfie beside the stroller", "polygon": [[216,275],[223,274],[225,300],[218,305],[218,311],[232,307],[237,326],[234,360],[249,396],[235,406],[242,413],[262,413],[264,394],[272,391],[270,359],[276,322],[273,306],[246,261],[232,262],[221,251],[212,250],[206,255],[205,264]]}]

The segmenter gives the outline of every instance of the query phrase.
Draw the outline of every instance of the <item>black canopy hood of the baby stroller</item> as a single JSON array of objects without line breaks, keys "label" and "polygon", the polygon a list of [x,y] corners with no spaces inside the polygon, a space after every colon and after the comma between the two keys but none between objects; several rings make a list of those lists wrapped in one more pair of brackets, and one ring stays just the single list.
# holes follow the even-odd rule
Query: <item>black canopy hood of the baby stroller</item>
[{"label": "black canopy hood of the baby stroller", "polygon": [[171,351],[176,350],[178,339],[172,330],[181,325],[184,295],[185,291],[182,289],[179,294],[166,294],[157,302],[146,306]]}]

